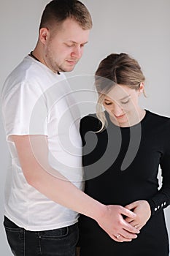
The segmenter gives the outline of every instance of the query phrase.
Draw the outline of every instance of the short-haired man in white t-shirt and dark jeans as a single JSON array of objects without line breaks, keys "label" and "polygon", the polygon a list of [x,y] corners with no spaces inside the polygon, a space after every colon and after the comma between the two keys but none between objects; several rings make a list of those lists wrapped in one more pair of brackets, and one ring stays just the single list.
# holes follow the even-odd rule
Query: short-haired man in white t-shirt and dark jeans
[{"label": "short-haired man in white t-shirt and dark jeans", "polygon": [[123,219],[122,214],[135,217],[131,211],[104,206],[81,191],[79,114],[63,72],[81,58],[91,27],[80,1],[50,1],[36,48],[4,84],[2,112],[12,159],[4,227],[14,255],[75,255],[78,212],[96,219],[116,241],[122,232],[121,241],[139,233]]}]

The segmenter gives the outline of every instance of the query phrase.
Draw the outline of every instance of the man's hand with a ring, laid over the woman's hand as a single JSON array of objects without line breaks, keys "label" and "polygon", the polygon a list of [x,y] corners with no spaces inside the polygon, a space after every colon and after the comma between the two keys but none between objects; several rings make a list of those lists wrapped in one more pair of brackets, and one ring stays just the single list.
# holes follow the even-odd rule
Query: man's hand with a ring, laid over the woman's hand
[{"label": "man's hand with a ring, laid over the woman's hand", "polygon": [[136,214],[122,206],[106,207],[107,211],[105,211],[104,216],[98,220],[98,225],[117,242],[131,241],[137,238],[136,233],[139,233],[139,230],[123,219],[123,216],[129,219],[136,219]]}]

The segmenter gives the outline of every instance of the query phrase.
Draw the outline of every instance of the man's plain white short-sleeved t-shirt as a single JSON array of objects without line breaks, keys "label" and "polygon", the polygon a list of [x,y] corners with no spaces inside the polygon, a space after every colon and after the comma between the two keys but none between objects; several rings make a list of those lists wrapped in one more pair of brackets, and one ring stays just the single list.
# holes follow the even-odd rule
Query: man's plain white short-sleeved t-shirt
[{"label": "man's plain white short-sleeved t-shirt", "polygon": [[10,135],[47,136],[50,165],[83,188],[80,113],[65,76],[26,56],[4,83],[1,103],[11,156],[4,214],[26,230],[74,224],[77,212],[49,200],[27,183],[15,144],[9,140]]}]

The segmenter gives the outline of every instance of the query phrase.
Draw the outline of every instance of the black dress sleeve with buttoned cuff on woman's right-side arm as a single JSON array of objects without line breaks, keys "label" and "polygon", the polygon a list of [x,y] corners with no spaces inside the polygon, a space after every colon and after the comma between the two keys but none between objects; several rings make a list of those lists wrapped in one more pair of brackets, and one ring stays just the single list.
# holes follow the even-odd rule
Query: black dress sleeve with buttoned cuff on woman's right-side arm
[{"label": "black dress sleeve with buttoned cuff on woman's right-side arm", "polygon": [[[168,133],[163,135],[166,146],[161,156],[160,167],[162,173],[162,187],[147,202],[150,204],[151,214],[155,215],[161,209],[166,208],[170,204],[170,126]],[[166,138],[165,138],[166,137]]]}]

